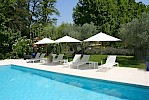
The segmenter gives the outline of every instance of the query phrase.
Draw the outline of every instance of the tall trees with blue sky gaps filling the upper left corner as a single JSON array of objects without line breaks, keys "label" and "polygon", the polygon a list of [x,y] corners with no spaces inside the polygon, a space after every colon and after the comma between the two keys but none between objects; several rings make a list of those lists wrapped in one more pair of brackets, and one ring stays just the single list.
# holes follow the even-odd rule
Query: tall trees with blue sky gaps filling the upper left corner
[{"label": "tall trees with blue sky gaps filling the upper left corner", "polygon": [[33,39],[59,15],[56,0],[0,0],[0,49],[3,55],[21,36]]}]

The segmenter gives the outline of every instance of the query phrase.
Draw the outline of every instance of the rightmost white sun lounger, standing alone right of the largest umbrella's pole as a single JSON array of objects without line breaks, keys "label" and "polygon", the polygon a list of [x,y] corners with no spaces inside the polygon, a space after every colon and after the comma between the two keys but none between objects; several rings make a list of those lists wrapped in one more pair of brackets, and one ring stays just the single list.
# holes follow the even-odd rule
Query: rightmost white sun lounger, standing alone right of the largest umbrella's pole
[{"label": "rightmost white sun lounger, standing alone right of the largest umbrella's pole", "polygon": [[116,61],[116,55],[108,55],[106,63],[103,65],[98,66],[98,69],[103,68],[113,68],[115,65],[119,66],[119,64]]}]

